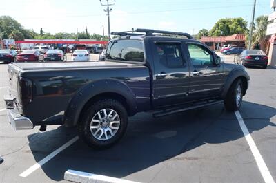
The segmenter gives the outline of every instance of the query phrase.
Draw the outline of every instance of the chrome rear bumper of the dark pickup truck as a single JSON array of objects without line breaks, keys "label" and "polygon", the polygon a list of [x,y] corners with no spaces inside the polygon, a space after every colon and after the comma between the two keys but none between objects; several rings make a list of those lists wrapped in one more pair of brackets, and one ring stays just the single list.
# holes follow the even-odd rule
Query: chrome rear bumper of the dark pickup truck
[{"label": "chrome rear bumper of the dark pickup truck", "polygon": [[6,111],[7,111],[8,121],[10,122],[10,124],[15,130],[34,128],[32,121],[29,118],[22,116],[16,108],[6,109]]}]

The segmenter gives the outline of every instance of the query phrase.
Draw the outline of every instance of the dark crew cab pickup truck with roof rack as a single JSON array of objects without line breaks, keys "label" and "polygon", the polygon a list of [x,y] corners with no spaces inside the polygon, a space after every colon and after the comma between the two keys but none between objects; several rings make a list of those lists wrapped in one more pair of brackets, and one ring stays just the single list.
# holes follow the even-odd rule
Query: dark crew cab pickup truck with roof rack
[{"label": "dark crew cab pickup truck with roof rack", "polygon": [[242,105],[250,77],[186,33],[113,32],[105,61],[14,63],[5,96],[14,129],[77,127],[88,145],[106,148],[126,131],[128,116],[155,117],[224,103]]}]

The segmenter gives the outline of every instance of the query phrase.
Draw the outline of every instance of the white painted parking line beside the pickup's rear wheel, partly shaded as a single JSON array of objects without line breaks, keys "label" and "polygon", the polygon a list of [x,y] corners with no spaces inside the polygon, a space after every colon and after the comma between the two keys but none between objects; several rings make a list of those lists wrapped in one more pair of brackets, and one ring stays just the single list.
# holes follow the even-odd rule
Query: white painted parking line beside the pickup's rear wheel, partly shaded
[{"label": "white painted parking line beside the pickup's rear wheel, partly shaded", "polygon": [[47,155],[45,158],[43,158],[41,161],[39,161],[36,164],[30,166],[29,169],[27,169],[26,171],[23,171],[23,173],[21,173],[19,176],[20,177],[27,177],[32,172],[34,172],[37,169],[39,169],[43,164],[46,164],[46,162],[48,162],[49,160],[51,160],[52,158],[54,158],[55,155],[57,155],[58,153],[60,153],[61,151],[63,151],[67,147],[69,147],[70,145],[72,145],[78,139],[79,139],[79,137],[75,136],[75,138],[72,138],[71,140],[69,140],[68,142],[66,142],[66,144],[63,144],[61,147],[59,147],[59,149],[56,149],[55,151],[53,151],[52,153],[50,153],[49,155]]}]

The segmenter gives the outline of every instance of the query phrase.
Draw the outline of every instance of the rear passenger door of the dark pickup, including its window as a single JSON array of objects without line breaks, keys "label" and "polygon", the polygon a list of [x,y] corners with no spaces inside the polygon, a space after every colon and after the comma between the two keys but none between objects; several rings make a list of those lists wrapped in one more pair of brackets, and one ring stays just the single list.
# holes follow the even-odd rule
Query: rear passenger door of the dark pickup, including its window
[{"label": "rear passenger door of the dark pickup, including its window", "polygon": [[189,88],[189,72],[181,42],[155,41],[152,47],[155,107],[184,103]]}]

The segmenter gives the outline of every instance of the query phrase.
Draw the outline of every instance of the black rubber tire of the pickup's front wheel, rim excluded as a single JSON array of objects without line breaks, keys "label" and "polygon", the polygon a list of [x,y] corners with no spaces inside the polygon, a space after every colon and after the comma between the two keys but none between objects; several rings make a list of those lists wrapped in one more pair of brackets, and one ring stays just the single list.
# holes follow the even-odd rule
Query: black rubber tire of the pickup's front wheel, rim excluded
[{"label": "black rubber tire of the pickup's front wheel, rim excluded", "polygon": [[[240,100],[239,103],[237,103],[237,88],[240,87]],[[235,80],[232,85],[230,86],[227,94],[226,94],[226,98],[224,98],[224,107],[228,110],[228,111],[237,111],[239,110],[239,107],[241,107],[242,105],[242,98],[243,98],[243,94],[244,94],[244,87],[243,87],[243,83],[242,80],[237,79]]]}]

